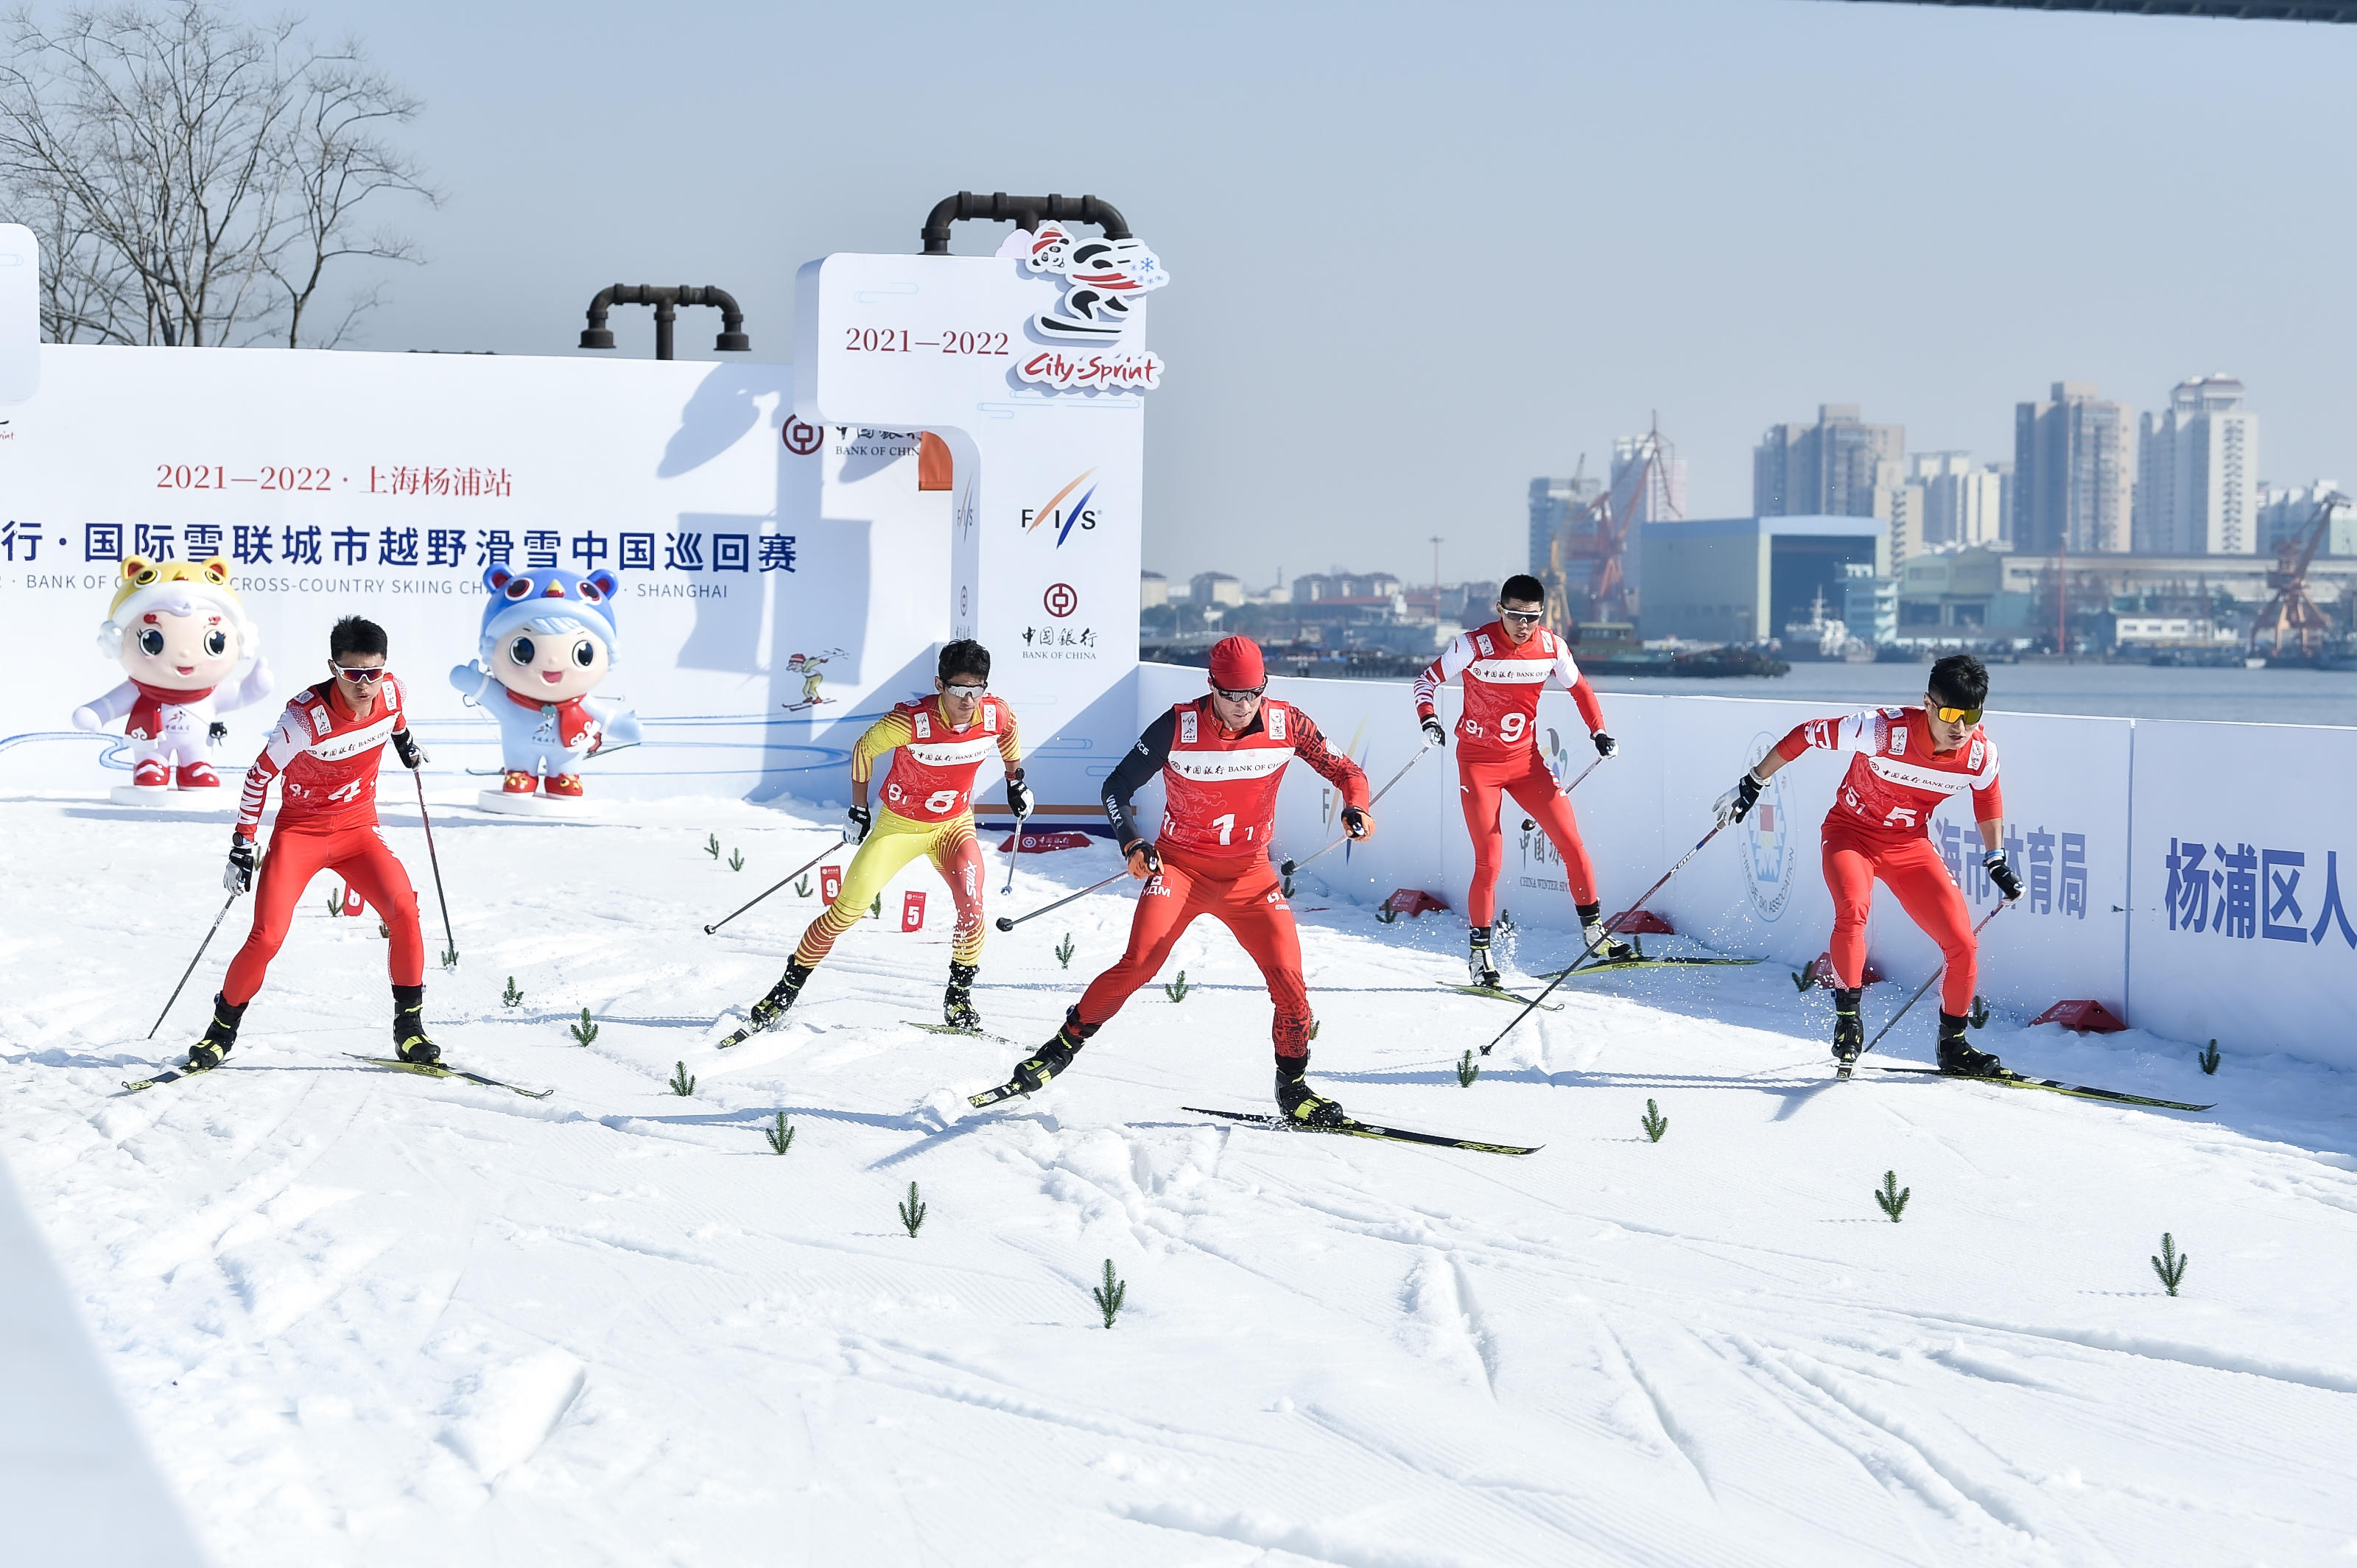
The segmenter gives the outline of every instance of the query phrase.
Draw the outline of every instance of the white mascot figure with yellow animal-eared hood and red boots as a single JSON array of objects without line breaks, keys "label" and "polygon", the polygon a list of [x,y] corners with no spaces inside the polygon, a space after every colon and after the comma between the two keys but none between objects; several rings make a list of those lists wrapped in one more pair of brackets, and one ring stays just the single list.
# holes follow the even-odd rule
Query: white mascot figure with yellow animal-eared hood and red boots
[{"label": "white mascot figure with yellow animal-eared hood and red boots", "polygon": [[[99,651],[130,677],[73,710],[75,729],[127,719],[132,783],[115,799],[191,804],[224,799],[210,752],[229,729],[217,719],[271,693],[262,637],[229,587],[229,561],[123,561],[115,601],[99,627]],[[252,660],[243,679],[231,679]]]}]

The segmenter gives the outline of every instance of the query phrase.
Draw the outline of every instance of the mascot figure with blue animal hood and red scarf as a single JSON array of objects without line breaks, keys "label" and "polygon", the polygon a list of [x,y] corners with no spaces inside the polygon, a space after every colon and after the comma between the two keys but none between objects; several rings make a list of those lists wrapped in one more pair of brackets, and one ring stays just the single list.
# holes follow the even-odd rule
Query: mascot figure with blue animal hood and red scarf
[{"label": "mascot figure with blue animal hood and red scarf", "polygon": [[[478,658],[450,684],[500,724],[500,795],[523,804],[580,799],[580,764],[608,745],[636,745],[639,714],[589,696],[615,665],[613,573],[493,566],[483,573]],[[486,804],[490,792],[486,790]]]}]

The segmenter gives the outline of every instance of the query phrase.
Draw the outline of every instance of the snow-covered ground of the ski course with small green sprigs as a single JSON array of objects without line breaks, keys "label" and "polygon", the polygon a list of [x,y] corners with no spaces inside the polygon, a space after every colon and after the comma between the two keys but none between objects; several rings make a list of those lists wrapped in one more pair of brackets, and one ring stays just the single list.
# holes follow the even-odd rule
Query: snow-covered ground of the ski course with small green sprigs
[{"label": "snow-covered ground of the ski course with small green sprigs", "polygon": [[[424,889],[415,813],[387,823]],[[1115,957],[1127,894],[995,934],[1006,1042],[943,1037],[903,1023],[938,1019],[948,957],[919,863],[924,934],[889,894],[790,1028],[719,1054],[712,1019],[775,979],[816,898],[698,927],[820,832],[738,802],[552,825],[453,795],[464,962],[429,976],[429,1019],[457,1063],[554,1096],[349,1061],[387,1042],[384,957],[328,879],[231,1066],[123,1096],[243,936],[240,905],[144,1047],[219,908],[222,821],[0,802],[0,1153],[217,1561],[2357,1556],[2350,1075],[2204,1078],[2145,1033],[1999,1019],[1980,1040],[2018,1068],[2220,1103],[1831,1085],[1827,1002],[1763,964],[1565,988],[1461,1089],[1511,1012],[1435,986],[1457,920],[1303,894],[1315,1078],[1362,1118],[1541,1153],[1181,1111],[1268,1103],[1268,1002],[1214,924],[1171,962],[1183,1002],[1141,993],[1049,1094],[973,1113]],[[992,913],[1110,865],[1051,856]],[[1893,1056],[1928,1056],[1919,1012]],[[679,1061],[693,1096],[665,1085]],[[1869,1195],[1886,1170],[1902,1224]],[[2178,1299],[2147,1264],[2164,1231],[2192,1257]]]}]

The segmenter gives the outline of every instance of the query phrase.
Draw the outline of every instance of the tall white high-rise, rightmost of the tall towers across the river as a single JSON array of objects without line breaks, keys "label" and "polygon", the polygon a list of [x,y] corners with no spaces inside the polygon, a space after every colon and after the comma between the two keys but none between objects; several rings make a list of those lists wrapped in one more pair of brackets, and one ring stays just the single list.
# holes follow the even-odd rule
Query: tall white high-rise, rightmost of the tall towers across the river
[{"label": "tall white high-rise, rightmost of the tall towers across the river", "polygon": [[2258,554],[2258,415],[2232,375],[2178,382],[2166,413],[2140,422],[2135,549]]}]

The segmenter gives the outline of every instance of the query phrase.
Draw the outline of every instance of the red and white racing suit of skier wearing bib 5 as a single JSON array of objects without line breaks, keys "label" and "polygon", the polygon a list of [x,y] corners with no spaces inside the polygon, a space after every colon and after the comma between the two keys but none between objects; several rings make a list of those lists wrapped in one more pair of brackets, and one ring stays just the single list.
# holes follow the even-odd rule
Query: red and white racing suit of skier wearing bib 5
[{"label": "red and white racing suit of skier wearing bib 5", "polygon": [[1834,979],[1846,988],[1864,983],[1867,910],[1874,879],[1897,896],[1907,917],[1940,943],[1947,971],[1940,976],[1940,1012],[1973,1012],[1980,955],[1963,891],[1947,875],[1930,842],[1930,813],[1970,792],[1973,821],[2003,821],[2006,797],[1996,788],[1996,745],[1973,726],[1954,752],[1930,750],[1930,722],[1921,707],[1876,707],[1843,719],[1796,724],[1775,743],[1775,755],[1794,762],[1810,747],[1850,752],[1850,771],[1824,813],[1824,887],[1834,894]]}]

